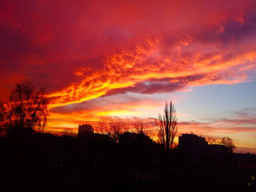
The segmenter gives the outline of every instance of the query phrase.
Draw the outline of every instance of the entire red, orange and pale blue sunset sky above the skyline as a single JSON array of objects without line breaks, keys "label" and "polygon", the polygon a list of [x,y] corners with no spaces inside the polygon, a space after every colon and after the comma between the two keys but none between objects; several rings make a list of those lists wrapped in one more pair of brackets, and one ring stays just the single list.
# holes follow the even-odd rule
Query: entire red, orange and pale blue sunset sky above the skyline
[{"label": "entire red, orange and pale blue sunset sky above the skyline", "polygon": [[48,131],[152,124],[172,100],[177,136],[256,154],[254,0],[2,0],[0,44],[0,101],[25,79],[45,87]]}]

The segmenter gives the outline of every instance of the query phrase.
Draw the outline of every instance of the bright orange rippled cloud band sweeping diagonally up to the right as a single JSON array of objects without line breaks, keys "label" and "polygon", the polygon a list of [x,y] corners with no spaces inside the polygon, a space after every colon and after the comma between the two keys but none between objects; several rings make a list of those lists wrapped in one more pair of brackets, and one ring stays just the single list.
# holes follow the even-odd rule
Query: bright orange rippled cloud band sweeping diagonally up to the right
[{"label": "bright orange rippled cloud band sweeping diagonally up to the right", "polygon": [[[193,54],[184,55],[185,49],[192,49],[195,45],[196,42],[189,40],[188,44],[178,42],[174,48],[166,48],[161,39],[155,39],[131,50],[123,49],[119,54],[105,55],[102,69],[85,75],[86,70],[81,68],[75,71],[82,77],[79,83],[49,94],[54,99],[50,107],[84,102],[104,96],[111,90],[135,88],[137,84],[152,79],[169,79],[170,84],[176,81],[182,86],[236,84],[247,80],[246,69],[255,67],[252,63],[256,58],[255,51],[227,59],[229,53],[218,50],[216,54],[208,55],[202,46]],[[195,75],[197,79],[189,79]]]}]

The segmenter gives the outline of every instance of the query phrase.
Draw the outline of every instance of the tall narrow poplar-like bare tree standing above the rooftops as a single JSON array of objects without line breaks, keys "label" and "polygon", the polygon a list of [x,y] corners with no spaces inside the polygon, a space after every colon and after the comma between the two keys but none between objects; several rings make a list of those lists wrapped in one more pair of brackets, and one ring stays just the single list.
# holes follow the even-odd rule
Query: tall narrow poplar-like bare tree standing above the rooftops
[{"label": "tall narrow poplar-like bare tree standing above the rooftops", "polygon": [[177,134],[177,117],[176,110],[172,101],[166,102],[163,115],[159,114],[159,118],[155,119],[157,125],[158,139],[163,143],[166,151],[173,147],[174,137]]}]

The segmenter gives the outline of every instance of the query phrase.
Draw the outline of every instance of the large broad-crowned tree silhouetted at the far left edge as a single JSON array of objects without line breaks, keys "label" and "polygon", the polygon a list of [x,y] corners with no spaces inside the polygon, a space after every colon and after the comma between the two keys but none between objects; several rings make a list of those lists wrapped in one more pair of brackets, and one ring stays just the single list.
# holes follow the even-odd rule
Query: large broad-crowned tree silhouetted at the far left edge
[{"label": "large broad-crowned tree silhouetted at the far left edge", "polygon": [[8,128],[20,126],[44,131],[48,116],[48,103],[45,88],[37,91],[29,81],[15,84],[9,96],[9,102],[5,105],[4,125]]}]

